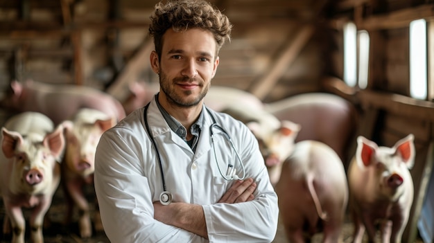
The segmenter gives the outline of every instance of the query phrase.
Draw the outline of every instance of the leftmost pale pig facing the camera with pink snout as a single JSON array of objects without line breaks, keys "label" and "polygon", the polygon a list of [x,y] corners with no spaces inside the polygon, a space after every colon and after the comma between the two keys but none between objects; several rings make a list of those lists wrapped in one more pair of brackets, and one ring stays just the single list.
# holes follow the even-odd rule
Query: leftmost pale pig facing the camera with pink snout
[{"label": "leftmost pale pig facing the camera with pink snout", "polygon": [[9,234],[12,226],[12,242],[24,242],[26,224],[21,208],[31,208],[31,241],[44,242],[44,216],[60,182],[62,126],[53,131],[48,117],[24,112],[10,118],[2,134],[0,192],[6,208],[3,233]]}]

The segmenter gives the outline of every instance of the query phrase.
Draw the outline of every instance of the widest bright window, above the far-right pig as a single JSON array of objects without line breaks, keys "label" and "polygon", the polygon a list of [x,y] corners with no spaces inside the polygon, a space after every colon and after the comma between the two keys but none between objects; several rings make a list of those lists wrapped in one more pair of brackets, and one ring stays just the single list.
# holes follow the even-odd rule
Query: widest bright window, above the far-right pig
[{"label": "widest bright window, above the far-right pig", "polygon": [[410,22],[410,96],[426,100],[428,89],[426,21]]}]

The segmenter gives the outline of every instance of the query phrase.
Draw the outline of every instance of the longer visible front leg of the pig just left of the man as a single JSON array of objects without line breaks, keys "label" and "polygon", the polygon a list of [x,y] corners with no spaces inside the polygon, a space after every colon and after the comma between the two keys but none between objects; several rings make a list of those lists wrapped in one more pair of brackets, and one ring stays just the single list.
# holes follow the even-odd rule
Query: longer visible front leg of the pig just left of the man
[{"label": "longer visible front leg of the pig just left of the man", "polygon": [[89,204],[83,194],[83,183],[76,183],[77,181],[70,181],[67,183],[67,191],[74,204],[79,210],[78,228],[81,237],[92,236],[92,223],[90,222]]}]

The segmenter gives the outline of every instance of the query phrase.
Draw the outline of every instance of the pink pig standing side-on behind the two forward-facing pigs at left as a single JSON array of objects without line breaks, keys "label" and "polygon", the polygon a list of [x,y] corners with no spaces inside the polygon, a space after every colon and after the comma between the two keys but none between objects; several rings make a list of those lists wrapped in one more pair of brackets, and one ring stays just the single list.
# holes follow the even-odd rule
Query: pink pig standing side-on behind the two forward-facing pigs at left
[{"label": "pink pig standing side-on behind the two forward-facing pigs at left", "polygon": [[0,106],[15,111],[37,111],[45,114],[55,125],[71,119],[81,108],[103,111],[119,121],[125,118],[121,103],[107,93],[91,87],[46,84],[27,80],[11,84],[12,93],[0,102]]}]

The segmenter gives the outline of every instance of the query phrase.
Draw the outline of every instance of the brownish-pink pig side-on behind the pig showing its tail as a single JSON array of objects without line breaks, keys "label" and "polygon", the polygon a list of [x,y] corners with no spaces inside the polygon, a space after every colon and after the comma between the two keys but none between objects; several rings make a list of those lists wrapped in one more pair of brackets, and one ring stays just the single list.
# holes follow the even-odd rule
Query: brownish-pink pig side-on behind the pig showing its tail
[{"label": "brownish-pink pig side-on behind the pig showing its tail", "polygon": [[347,148],[356,129],[356,109],[331,93],[303,93],[265,105],[279,120],[291,120],[303,129],[295,142],[320,141],[338,153],[347,165]]}]

